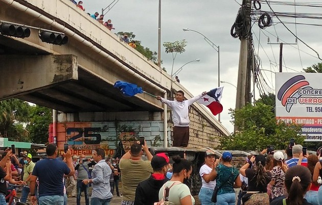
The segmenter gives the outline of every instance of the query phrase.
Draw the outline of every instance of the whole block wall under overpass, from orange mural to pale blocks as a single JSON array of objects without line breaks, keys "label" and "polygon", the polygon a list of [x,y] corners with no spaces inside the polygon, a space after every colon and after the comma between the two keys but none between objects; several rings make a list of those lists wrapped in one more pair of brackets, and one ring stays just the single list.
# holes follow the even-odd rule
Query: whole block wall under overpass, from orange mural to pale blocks
[{"label": "whole block wall under overpass, from orange mural to pale blocks", "polygon": [[[113,155],[121,141],[127,151],[139,136],[145,136],[149,147],[164,147],[161,112],[61,113],[58,122],[58,149],[67,141],[74,155],[90,155],[96,148]],[[49,134],[53,142],[53,125]]]}]

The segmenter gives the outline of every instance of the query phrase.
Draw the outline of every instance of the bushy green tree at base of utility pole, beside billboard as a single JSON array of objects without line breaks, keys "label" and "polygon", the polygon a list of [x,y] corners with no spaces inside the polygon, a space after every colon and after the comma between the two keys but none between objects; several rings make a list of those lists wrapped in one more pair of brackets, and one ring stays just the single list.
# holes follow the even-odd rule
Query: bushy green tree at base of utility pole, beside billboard
[{"label": "bushy green tree at base of utility pole, beside billboard", "polygon": [[263,150],[268,145],[275,146],[275,150],[284,150],[290,138],[295,138],[297,144],[302,144],[304,137],[298,135],[301,125],[277,122],[272,106],[257,102],[255,106],[247,104],[245,107],[231,109],[232,122],[237,131],[231,136],[222,137],[222,150]]}]

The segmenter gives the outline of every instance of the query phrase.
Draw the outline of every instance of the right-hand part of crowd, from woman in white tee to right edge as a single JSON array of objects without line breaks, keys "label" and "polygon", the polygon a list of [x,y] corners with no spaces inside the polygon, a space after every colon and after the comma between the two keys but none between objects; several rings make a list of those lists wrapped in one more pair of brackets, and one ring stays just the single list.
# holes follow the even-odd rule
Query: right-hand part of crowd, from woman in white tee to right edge
[{"label": "right-hand part of crowd, from woman in white tee to right edge", "polygon": [[[265,157],[266,152],[247,156],[239,171],[231,164],[230,152],[224,152],[220,160],[207,152],[199,172],[201,204],[322,204],[320,150],[318,156],[308,155],[301,145],[289,146],[286,159],[281,151]],[[241,188],[238,201],[234,188]]]}]

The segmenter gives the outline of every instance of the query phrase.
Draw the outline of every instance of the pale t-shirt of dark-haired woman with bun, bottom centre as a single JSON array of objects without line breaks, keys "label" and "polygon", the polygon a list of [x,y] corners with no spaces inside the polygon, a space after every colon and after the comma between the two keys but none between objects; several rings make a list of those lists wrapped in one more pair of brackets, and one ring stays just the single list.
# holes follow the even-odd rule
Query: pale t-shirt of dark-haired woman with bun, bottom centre
[{"label": "pale t-shirt of dark-haired woman with bun, bottom centre", "polygon": [[[174,181],[167,181],[160,189],[159,191],[159,200],[163,199],[163,193],[165,190],[165,186],[171,187],[171,185],[174,183]],[[169,204],[175,204],[175,205],[185,205],[180,203],[180,199],[185,198],[186,196],[191,196],[191,202],[194,205],[195,199],[190,193],[190,189],[187,185],[184,183],[179,183],[178,185],[174,185],[169,190]]]}]

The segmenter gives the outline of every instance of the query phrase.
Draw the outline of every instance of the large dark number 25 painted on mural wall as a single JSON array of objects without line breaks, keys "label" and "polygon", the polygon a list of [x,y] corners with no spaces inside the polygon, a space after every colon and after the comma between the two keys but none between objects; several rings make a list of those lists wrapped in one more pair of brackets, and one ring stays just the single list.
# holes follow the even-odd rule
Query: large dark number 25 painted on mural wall
[{"label": "large dark number 25 painted on mural wall", "polygon": [[72,132],[77,135],[74,135],[70,138],[70,140],[76,140],[78,138],[83,137],[84,134],[84,143],[86,145],[98,145],[101,143],[102,137],[101,134],[93,134],[91,132],[100,132],[101,128],[67,128],[66,134],[70,135]]}]

